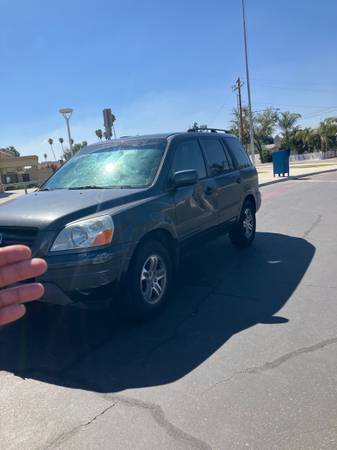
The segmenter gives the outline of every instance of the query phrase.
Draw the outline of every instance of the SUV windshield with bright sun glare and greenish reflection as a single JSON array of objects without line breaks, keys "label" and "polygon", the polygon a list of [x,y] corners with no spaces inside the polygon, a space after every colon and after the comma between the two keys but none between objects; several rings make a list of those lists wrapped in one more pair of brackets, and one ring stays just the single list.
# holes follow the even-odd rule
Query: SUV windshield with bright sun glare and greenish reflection
[{"label": "SUV windshield with bright sun glare and greenish reflection", "polygon": [[165,140],[111,145],[73,157],[42,190],[149,186],[158,171]]}]

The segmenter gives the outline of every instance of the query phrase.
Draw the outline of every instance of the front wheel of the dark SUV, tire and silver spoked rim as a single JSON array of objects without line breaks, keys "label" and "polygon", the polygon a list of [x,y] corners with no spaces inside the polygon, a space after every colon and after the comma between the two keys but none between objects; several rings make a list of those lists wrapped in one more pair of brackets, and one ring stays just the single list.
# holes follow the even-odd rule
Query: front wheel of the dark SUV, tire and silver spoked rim
[{"label": "front wheel of the dark SUV, tire and silver spoked rim", "polygon": [[165,246],[155,240],[142,243],[130,263],[126,297],[122,292],[124,312],[138,320],[153,317],[167,302],[172,279],[172,259]]}]

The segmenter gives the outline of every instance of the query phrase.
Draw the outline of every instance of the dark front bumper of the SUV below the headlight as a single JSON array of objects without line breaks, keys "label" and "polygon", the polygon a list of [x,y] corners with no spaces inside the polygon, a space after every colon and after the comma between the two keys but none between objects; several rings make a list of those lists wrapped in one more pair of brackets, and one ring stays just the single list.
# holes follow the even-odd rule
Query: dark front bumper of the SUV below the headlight
[{"label": "dark front bumper of the SUV below the headlight", "polygon": [[100,250],[48,254],[46,274],[36,281],[45,287],[40,301],[56,305],[99,307],[104,286],[117,285],[128,269],[131,245],[120,244]]}]

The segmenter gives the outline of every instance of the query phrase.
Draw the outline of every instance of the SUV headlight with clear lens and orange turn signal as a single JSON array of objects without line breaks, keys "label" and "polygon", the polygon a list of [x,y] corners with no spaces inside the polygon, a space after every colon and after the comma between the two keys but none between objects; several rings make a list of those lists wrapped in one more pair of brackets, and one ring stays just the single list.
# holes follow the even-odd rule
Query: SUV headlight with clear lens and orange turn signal
[{"label": "SUV headlight with clear lens and orange turn signal", "polygon": [[52,252],[110,244],[114,223],[110,216],[80,220],[67,225],[52,245]]}]

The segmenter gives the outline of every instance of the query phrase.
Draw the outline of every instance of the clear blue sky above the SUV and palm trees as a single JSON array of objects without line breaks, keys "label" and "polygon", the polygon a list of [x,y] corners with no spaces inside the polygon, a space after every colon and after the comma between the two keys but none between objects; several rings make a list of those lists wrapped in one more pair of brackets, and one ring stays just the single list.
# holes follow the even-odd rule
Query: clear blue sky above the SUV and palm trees
[{"label": "clear blue sky above the SUV and palm trees", "polygon": [[[337,115],[337,2],[246,2],[253,109],[303,125]],[[63,106],[76,142],[95,141],[105,107],[119,135],[228,127],[245,79],[240,14],[240,0],[2,0],[0,147],[51,158]]]}]

